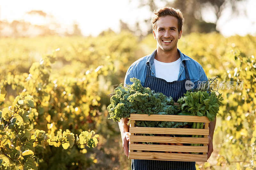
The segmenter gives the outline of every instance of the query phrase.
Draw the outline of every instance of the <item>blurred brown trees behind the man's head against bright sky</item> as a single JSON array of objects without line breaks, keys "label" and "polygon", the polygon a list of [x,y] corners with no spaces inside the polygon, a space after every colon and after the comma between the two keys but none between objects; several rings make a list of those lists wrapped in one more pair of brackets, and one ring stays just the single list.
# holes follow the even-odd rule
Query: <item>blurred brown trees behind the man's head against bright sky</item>
[{"label": "blurred brown trees behind the man's head against bright sky", "polygon": [[[183,33],[185,34],[190,32],[219,32],[220,30],[217,29],[217,23],[223,15],[224,9],[232,9],[230,18],[239,14],[245,14],[244,9],[241,9],[239,6],[240,2],[245,1],[247,0],[139,0],[138,8],[147,6],[150,11],[154,11],[162,6],[171,6],[180,9],[185,18],[183,26]],[[161,4],[161,6],[157,4]],[[204,21],[203,10],[205,9],[211,10],[215,14],[216,20],[214,22],[208,23]],[[145,22],[148,25],[148,34],[152,33],[150,18],[146,19]]]}]

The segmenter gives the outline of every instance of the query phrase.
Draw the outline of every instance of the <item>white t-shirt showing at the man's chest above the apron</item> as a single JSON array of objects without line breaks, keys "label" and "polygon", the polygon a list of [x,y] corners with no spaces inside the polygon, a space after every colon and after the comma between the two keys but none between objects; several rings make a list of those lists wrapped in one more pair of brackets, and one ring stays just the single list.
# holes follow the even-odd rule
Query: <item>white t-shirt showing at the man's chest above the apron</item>
[{"label": "white t-shirt showing at the man's chest above the apron", "polygon": [[180,72],[181,59],[170,63],[164,63],[154,59],[154,64],[156,68],[156,77],[166,80],[167,82],[172,82],[178,80]]}]

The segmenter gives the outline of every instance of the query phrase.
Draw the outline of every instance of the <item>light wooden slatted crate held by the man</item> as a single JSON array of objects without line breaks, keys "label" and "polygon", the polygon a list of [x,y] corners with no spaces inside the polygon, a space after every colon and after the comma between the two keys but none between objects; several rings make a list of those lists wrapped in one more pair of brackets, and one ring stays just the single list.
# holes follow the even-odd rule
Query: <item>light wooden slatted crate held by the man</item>
[{"label": "light wooden slatted crate held by the man", "polygon": [[[176,160],[176,161],[207,161],[209,119],[199,116],[179,116],[179,115],[142,115],[131,114],[129,159],[149,159],[149,160]],[[173,121],[173,122],[202,122],[204,129],[192,128],[149,128],[134,127],[135,120],[144,121]],[[166,136],[139,136],[134,133],[145,134],[174,134],[174,135],[204,135],[204,138],[195,137],[166,137]],[[151,145],[134,144],[134,142],[155,142],[155,143],[182,143],[182,144],[203,144],[203,146],[178,146],[178,145]],[[134,150],[151,152],[134,152]],[[153,151],[153,152],[152,152]],[[162,152],[156,152],[162,151]],[[165,153],[165,152],[201,152],[203,154],[186,153]]]}]

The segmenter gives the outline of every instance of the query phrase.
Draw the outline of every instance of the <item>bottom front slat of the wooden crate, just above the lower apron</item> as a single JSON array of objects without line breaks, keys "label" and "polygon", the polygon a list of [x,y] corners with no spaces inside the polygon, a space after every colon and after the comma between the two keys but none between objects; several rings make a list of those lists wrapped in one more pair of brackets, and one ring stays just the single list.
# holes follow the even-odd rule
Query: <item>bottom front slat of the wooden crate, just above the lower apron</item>
[{"label": "bottom front slat of the wooden crate, just above the lower apron", "polygon": [[162,153],[162,152],[129,152],[129,159],[181,160],[206,162],[207,155]]}]

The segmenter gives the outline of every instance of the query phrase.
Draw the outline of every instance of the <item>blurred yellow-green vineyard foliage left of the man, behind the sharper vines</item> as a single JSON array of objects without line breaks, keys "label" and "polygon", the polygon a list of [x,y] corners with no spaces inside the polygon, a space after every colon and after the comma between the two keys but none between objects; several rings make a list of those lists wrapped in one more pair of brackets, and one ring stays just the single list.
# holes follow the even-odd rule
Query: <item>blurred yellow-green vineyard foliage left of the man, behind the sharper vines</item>
[{"label": "blurred yellow-green vineyard foliage left of the man, behind the sharper vines", "polygon": [[[45,131],[52,139],[59,129],[69,130],[73,135],[77,134],[78,141],[81,141],[79,134],[83,131],[91,129],[100,134],[97,149],[80,149],[79,145],[72,148],[65,145],[67,150],[36,146],[33,151],[36,165],[40,169],[105,169],[105,162],[117,164],[120,159],[116,159],[116,155],[121,155],[119,145],[112,145],[119,142],[115,136],[120,132],[116,124],[107,119],[106,106],[110,103],[107,94],[112,92],[113,84],[123,81],[127,67],[135,60],[136,37],[129,33],[109,33],[86,39],[41,37],[4,40],[10,46],[3,43],[5,45],[1,48],[0,110],[12,105],[16,96],[29,94],[35,103],[35,108],[29,112],[29,129],[32,131]],[[16,48],[17,44],[12,44],[14,42],[20,48]],[[53,55],[39,58],[50,48],[56,49]],[[128,60],[130,58],[131,61]],[[109,164],[108,169],[112,166]]]}]

